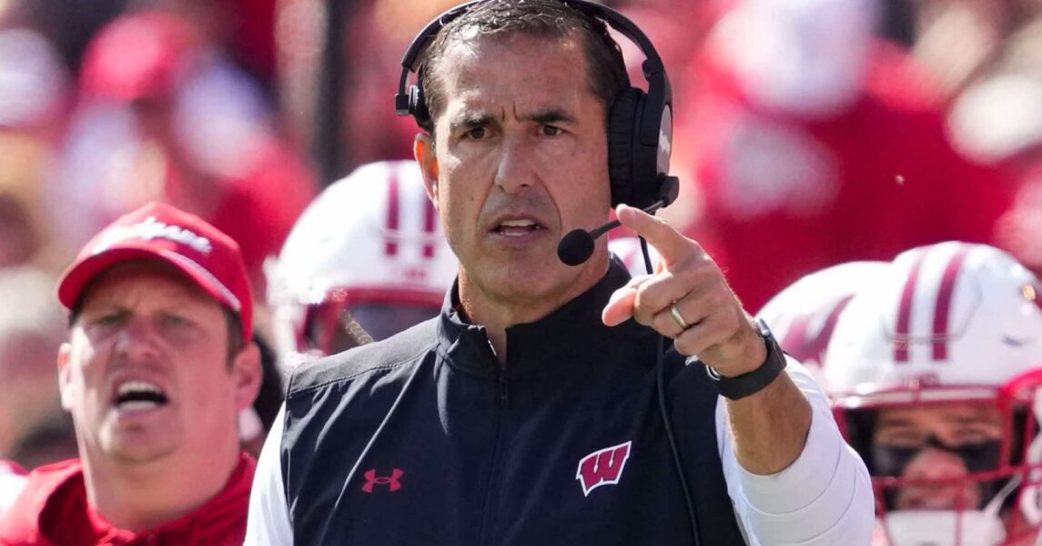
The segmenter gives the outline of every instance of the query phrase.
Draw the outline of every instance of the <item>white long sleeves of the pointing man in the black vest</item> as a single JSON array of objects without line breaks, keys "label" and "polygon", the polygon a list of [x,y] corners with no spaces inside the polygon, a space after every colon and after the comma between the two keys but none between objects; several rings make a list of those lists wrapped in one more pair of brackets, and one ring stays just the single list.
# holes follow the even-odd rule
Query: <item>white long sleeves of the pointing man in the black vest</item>
[{"label": "white long sleeves of the pointing man in the black vest", "polygon": [[[717,401],[717,446],[740,528],[750,546],[868,545],[874,504],[868,470],[843,440],[828,401],[811,374],[789,359],[786,372],[811,403],[807,444],[788,468],[771,475],[747,472],[731,445],[723,399]],[[284,406],[257,462],[246,545],[291,545],[293,529],[279,461]]]}]

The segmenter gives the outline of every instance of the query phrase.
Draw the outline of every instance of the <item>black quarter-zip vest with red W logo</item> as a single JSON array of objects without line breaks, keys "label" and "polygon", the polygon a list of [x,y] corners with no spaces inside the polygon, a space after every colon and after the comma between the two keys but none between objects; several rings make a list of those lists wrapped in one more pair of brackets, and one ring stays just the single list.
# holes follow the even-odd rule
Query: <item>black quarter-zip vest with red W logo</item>
[{"label": "black quarter-zip vest with red W logo", "polygon": [[[687,545],[659,409],[656,334],[600,312],[613,263],[546,318],[506,329],[500,367],[456,289],[441,316],[291,379],[281,445],[301,545]],[[667,401],[704,546],[743,544],[720,465],[717,395],[664,358]]]}]

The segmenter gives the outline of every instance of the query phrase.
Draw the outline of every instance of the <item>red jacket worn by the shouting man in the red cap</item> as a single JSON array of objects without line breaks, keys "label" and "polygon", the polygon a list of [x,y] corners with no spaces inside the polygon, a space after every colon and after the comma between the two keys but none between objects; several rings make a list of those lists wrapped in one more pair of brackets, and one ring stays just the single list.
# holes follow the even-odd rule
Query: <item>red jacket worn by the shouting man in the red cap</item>
[{"label": "red jacket worn by the shouting man in the red cap", "polygon": [[86,502],[78,458],[29,474],[8,512],[0,515],[2,546],[239,546],[256,462],[243,453],[224,490],[191,513],[157,527],[131,532],[113,526]]}]

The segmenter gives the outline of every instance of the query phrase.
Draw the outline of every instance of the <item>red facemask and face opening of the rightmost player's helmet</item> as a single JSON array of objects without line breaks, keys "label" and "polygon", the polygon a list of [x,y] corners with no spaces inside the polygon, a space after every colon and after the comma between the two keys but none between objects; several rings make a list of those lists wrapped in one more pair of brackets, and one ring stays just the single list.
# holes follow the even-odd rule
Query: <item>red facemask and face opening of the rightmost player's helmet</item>
[{"label": "red facemask and face opening of the rightmost player's helmet", "polygon": [[[1034,501],[1042,483],[1037,391],[1022,382],[974,399],[951,397],[967,394],[964,389],[915,388],[900,392],[903,402],[894,392],[879,393],[882,402],[863,397],[854,408],[838,405],[843,433],[872,476],[875,544],[1034,544],[1021,541],[1033,541],[1042,522]],[[964,428],[917,433],[899,424],[904,409],[947,414]],[[887,415],[897,415],[898,424],[882,422]],[[973,415],[987,417],[974,422]],[[888,426],[897,432],[880,436]]]}]

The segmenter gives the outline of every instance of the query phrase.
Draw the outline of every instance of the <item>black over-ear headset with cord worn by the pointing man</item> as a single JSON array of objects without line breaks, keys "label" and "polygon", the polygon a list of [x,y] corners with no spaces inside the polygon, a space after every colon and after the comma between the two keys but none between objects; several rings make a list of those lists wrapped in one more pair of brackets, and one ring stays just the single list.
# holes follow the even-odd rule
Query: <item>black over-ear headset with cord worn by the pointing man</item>
[{"label": "black over-ear headset with cord worn by the pointing man", "polygon": [[[401,77],[398,80],[398,92],[394,97],[395,113],[398,116],[412,116],[421,128],[429,130],[432,120],[427,109],[422,81],[417,77],[416,82],[406,88],[408,75],[419,72],[423,54],[442,28],[486,1],[474,0],[445,11],[427,23],[413,39],[401,59]],[[669,176],[669,156],[672,152],[673,138],[673,93],[662,57],[647,35],[622,14],[586,0],[560,1],[591,19],[606,23],[636,44],[644,54],[641,69],[648,84],[647,92],[635,86],[624,89],[615,97],[609,109],[607,172],[612,189],[612,206],[625,203],[638,208],[658,208],[669,204],[676,198],[679,180],[675,176]],[[648,273],[651,273],[651,260],[646,245],[642,238],[645,266]],[[662,363],[664,352],[665,338],[660,336],[656,363],[659,407],[680,489],[687,502],[692,539],[697,546],[700,544],[698,519],[684,475],[684,465],[666,404]]]}]

